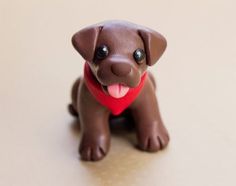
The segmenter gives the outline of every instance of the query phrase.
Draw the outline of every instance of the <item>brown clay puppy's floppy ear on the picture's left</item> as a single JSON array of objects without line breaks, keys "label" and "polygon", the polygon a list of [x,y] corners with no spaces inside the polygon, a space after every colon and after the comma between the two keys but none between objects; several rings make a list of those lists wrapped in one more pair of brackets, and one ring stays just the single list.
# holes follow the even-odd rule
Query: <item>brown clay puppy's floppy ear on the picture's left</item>
[{"label": "brown clay puppy's floppy ear on the picture's left", "polygon": [[75,33],[71,39],[74,48],[87,61],[92,61],[97,38],[102,26],[95,25],[86,27]]}]

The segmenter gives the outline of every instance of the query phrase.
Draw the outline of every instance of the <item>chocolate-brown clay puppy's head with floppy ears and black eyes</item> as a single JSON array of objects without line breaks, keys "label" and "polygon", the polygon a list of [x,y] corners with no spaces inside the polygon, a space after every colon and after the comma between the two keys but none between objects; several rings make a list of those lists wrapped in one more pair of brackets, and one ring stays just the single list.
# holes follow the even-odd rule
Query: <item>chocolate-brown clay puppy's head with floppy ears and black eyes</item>
[{"label": "chocolate-brown clay puppy's head with floppy ears and black eyes", "polygon": [[84,28],[73,35],[72,44],[105,91],[116,86],[124,93],[139,85],[147,66],[156,63],[167,45],[158,32],[124,21]]}]

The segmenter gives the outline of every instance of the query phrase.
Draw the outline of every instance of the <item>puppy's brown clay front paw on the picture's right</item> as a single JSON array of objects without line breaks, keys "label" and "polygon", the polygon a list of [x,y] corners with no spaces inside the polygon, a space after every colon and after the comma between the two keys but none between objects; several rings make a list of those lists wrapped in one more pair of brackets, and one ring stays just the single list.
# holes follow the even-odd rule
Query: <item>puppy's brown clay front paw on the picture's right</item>
[{"label": "puppy's brown clay front paw on the picture's right", "polygon": [[157,152],[168,145],[170,138],[163,125],[155,125],[139,132],[138,140],[139,149],[148,152]]}]

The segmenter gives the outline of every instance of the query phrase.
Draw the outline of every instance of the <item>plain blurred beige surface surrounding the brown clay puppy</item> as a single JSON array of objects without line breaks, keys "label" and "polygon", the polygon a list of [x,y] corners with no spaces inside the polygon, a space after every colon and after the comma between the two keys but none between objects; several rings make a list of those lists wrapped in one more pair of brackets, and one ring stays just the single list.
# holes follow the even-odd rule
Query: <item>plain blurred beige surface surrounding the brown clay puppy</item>
[{"label": "plain blurred beige surface surrounding the brown clay puppy", "polygon": [[[236,185],[235,9],[234,0],[1,0],[0,185]],[[148,154],[113,135],[103,161],[84,163],[66,110],[83,66],[70,38],[107,19],[166,36],[151,71],[171,143]]]}]

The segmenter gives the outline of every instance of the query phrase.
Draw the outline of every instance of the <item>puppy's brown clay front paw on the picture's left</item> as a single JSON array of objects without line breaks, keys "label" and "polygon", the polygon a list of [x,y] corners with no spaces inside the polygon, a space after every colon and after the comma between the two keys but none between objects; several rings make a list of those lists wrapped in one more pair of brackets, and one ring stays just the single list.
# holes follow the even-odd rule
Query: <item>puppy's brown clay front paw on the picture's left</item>
[{"label": "puppy's brown clay front paw on the picture's left", "polygon": [[82,160],[98,161],[103,159],[109,150],[109,137],[83,136],[79,147]]}]

